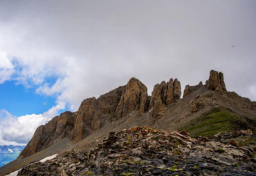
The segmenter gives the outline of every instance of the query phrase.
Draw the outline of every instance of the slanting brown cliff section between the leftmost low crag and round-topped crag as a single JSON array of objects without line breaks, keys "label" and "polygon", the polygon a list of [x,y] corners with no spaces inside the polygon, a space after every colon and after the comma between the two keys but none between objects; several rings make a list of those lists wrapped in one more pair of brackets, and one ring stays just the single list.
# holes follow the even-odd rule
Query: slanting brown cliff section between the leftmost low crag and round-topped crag
[{"label": "slanting brown cliff section between the leftmost low crag and round-topped crag", "polygon": [[107,94],[82,101],[75,117],[74,129],[70,135],[74,141],[80,141],[91,132],[99,130],[108,117],[113,117],[125,86],[111,90]]}]

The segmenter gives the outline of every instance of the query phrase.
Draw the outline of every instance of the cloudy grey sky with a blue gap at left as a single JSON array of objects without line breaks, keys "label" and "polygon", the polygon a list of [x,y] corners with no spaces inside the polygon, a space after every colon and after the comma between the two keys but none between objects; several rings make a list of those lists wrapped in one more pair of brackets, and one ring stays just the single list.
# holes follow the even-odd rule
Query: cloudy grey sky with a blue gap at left
[{"label": "cloudy grey sky with a blue gap at left", "polygon": [[256,100],[255,0],[0,1],[0,145],[131,77],[148,88],[223,72]]}]

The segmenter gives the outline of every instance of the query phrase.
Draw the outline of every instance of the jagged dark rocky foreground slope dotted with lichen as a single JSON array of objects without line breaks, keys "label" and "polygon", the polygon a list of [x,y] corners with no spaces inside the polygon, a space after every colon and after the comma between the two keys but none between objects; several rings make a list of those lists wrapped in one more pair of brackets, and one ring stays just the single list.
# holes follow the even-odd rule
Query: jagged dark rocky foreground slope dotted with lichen
[{"label": "jagged dark rocky foreground slope dotted with lichen", "polygon": [[71,150],[19,175],[256,175],[251,130],[193,138],[186,132],[134,127],[107,137],[91,150]]}]

